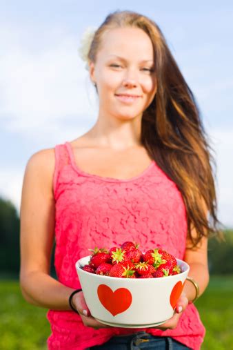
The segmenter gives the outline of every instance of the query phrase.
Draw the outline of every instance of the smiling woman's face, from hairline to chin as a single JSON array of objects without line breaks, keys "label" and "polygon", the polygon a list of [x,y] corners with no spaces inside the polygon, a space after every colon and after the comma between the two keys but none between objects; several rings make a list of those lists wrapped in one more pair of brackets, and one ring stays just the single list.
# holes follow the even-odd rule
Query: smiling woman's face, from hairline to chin
[{"label": "smiling woman's face, from hairline to chin", "polygon": [[[96,63],[90,63],[90,78],[97,84],[100,114],[119,119],[141,117],[156,93],[150,37],[132,27],[106,32]],[[125,94],[134,97],[122,96]]]}]

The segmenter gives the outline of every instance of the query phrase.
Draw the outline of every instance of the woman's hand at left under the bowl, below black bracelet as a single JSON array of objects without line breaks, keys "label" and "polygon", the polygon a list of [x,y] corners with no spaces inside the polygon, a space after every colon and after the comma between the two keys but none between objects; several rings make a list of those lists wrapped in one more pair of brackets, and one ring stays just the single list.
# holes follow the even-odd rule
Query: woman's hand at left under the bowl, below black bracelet
[{"label": "woman's hand at left under the bowl, below black bracelet", "polygon": [[[85,302],[83,291],[80,291],[79,293],[73,295],[72,304],[74,305],[75,309],[77,309],[77,311],[79,312],[79,315],[81,315],[83,324],[86,327],[92,327],[94,329],[112,327],[108,326],[108,324],[103,324],[97,321],[94,317],[92,317],[90,310],[88,309],[88,305]],[[87,312],[86,314],[85,311]]]}]

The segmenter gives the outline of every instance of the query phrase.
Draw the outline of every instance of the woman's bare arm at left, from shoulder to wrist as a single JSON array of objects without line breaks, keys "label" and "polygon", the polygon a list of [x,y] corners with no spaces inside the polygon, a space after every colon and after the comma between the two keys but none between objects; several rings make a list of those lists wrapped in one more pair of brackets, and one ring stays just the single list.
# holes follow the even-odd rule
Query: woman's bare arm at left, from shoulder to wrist
[{"label": "woman's bare arm at left, from shoulder to wrist", "polygon": [[20,286],[23,297],[31,304],[70,310],[68,297],[74,289],[50,276],[54,242],[53,171],[53,149],[35,153],[26,166],[20,212]]}]

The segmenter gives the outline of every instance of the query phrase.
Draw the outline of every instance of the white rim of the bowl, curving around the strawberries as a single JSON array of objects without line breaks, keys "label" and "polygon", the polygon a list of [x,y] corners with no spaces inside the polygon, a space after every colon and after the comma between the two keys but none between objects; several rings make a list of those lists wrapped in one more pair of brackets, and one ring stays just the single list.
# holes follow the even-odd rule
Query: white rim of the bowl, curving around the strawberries
[{"label": "white rim of the bowl, curving around the strawberries", "polygon": [[[181,259],[178,259],[177,257],[176,257],[176,261],[178,260],[179,262],[182,262],[182,263],[184,263],[185,264],[185,266],[186,266],[186,269],[185,269],[185,271],[182,271],[181,273],[177,273],[177,275],[172,275],[172,276],[163,276],[163,277],[156,277],[156,278],[123,278],[123,277],[112,277],[112,276],[105,276],[105,275],[97,275],[96,273],[90,273],[90,272],[88,272],[88,271],[84,271],[83,269],[81,269],[81,267],[80,267],[80,264],[79,264],[79,261],[80,260],[82,260],[82,259],[84,259],[85,257],[90,257],[91,255],[86,255],[86,256],[83,256],[83,257],[81,257],[79,260],[77,260],[77,262],[75,263],[75,267],[76,267],[76,269],[77,269],[77,271],[78,271],[78,269],[80,270],[80,271],[82,271],[82,273],[88,273],[88,275],[93,275],[93,276],[97,276],[98,278],[103,278],[103,279],[108,279],[108,280],[130,280],[130,281],[138,281],[138,280],[152,280],[152,281],[154,281],[154,280],[167,280],[167,279],[164,279],[164,277],[169,277],[169,278],[173,278],[173,279],[176,279],[178,276],[181,276],[181,275],[183,275],[184,273],[189,273],[189,271],[190,271],[190,265],[188,264],[188,262],[185,262],[184,260],[181,260]],[[177,262],[178,262],[177,261]],[[94,278],[96,278],[96,277],[94,277]]]}]

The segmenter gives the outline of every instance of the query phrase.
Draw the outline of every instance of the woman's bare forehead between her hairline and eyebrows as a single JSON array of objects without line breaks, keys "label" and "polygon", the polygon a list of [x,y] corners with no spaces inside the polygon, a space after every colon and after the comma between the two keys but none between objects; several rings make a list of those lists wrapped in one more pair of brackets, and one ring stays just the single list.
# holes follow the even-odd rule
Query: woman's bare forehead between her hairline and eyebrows
[{"label": "woman's bare forehead between her hairline and eyebrows", "polygon": [[[136,55],[141,60],[153,60],[153,45],[150,37],[140,28],[114,28],[105,32],[101,40],[103,55],[109,58]],[[123,55],[124,54],[124,55]],[[107,57],[107,56],[105,56]]]}]

